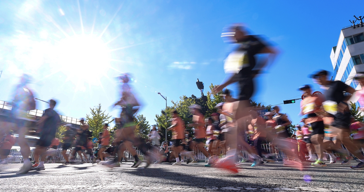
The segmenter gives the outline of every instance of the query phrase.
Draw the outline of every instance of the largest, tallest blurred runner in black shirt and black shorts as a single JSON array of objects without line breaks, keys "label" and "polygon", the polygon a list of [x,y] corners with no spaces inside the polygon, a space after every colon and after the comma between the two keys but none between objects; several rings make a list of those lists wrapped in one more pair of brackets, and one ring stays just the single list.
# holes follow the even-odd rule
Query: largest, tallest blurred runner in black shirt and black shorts
[{"label": "largest, tallest blurred runner in black shirt and black shorts", "polygon": [[[227,81],[214,88],[212,92],[216,94],[227,85],[235,82],[239,83],[240,93],[238,99],[233,100],[236,107],[233,107],[230,112],[236,120],[236,126],[231,127],[230,150],[232,151],[229,152],[229,155],[235,155],[238,143],[237,133],[242,132],[243,124],[245,124],[244,117],[249,115],[251,109],[250,97],[254,92],[253,78],[264,68],[268,61],[268,59],[257,60],[256,56],[260,53],[268,53],[268,58],[273,60],[276,51],[263,43],[257,36],[249,35],[241,24],[234,24],[226,29],[226,33],[222,33],[221,37],[229,37],[227,40],[236,43],[238,48],[227,56],[224,63],[225,73],[231,73],[232,75]],[[230,161],[230,163],[233,162]]]}]

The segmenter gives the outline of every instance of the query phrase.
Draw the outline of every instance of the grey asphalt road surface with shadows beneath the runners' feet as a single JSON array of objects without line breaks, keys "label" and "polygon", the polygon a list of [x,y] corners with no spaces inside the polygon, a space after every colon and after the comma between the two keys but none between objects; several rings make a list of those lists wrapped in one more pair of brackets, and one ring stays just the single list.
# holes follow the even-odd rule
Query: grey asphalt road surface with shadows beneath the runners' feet
[{"label": "grey asphalt road surface with shadows beneath the runners' feet", "polygon": [[131,165],[110,169],[90,163],[45,164],[46,170],[25,175],[15,175],[22,164],[0,165],[0,191],[364,191],[364,170],[340,163],[328,167],[306,163],[304,171],[283,167],[282,162],[256,167],[244,163],[237,174],[204,163],[162,163],[146,169],[144,163],[140,168]]}]

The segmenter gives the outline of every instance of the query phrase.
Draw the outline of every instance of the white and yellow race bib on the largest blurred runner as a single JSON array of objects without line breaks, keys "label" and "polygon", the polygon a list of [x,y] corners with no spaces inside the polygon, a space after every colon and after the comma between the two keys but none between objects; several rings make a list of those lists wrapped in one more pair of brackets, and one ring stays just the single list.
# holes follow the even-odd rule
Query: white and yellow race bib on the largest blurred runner
[{"label": "white and yellow race bib on the largest blurred runner", "polygon": [[249,67],[249,58],[246,51],[233,51],[224,62],[225,73],[238,73],[242,68]]}]

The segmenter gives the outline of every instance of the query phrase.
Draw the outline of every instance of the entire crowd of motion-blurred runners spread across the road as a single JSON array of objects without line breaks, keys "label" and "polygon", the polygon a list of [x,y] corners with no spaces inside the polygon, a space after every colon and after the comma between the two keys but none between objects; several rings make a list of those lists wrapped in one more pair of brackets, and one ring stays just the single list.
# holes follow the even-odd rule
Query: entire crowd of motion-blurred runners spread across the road
[{"label": "entire crowd of motion-blurred runners spread across the road", "polygon": [[[225,72],[230,75],[225,82],[212,90],[213,94],[222,93],[224,102],[215,106],[217,112],[205,118],[200,105],[191,105],[193,115],[192,124],[186,124],[179,117],[178,111],[172,111],[171,126],[173,145],[171,148],[166,142],[160,143],[157,127],[153,126],[149,134],[149,142],[135,136],[134,114],[138,111],[139,104],[132,88],[128,84],[130,76],[124,74],[119,77],[120,100],[114,106],[121,106],[122,111],[115,124],[118,125],[115,137],[110,143],[108,124],[103,127],[98,139],[98,149],[91,141],[89,125],[81,120],[79,129],[74,129],[71,124],[61,123],[60,117],[54,110],[55,100],[49,101],[49,108],[44,111],[39,120],[29,119],[27,111],[35,109],[35,100],[32,91],[27,87],[29,76],[23,75],[20,84],[15,89],[12,101],[12,110],[1,116],[0,134],[1,160],[6,163],[11,146],[15,143],[9,130],[14,130],[19,137],[17,143],[24,157],[23,167],[16,174],[24,174],[31,170],[44,170],[44,161],[47,156],[52,156],[50,146],[58,145],[55,139],[56,130],[64,125],[66,132],[63,138],[63,157],[65,165],[70,164],[76,153],[82,158],[82,163],[87,162],[87,155],[93,158],[93,163],[100,160],[102,165],[110,168],[119,166],[126,159],[124,152],[130,152],[134,157],[132,168],[138,167],[142,160],[138,151],[143,153],[143,160],[148,167],[152,163],[172,162],[181,165],[184,159],[186,164],[197,162],[197,152],[201,152],[207,159],[206,167],[219,167],[232,172],[238,172],[237,166],[245,161],[250,161],[252,167],[266,162],[277,161],[276,149],[280,149],[286,157],[284,165],[302,170],[303,161],[312,161],[314,167],[325,167],[325,158],[329,157],[330,163],[336,163],[340,157],[341,164],[349,164],[353,159],[350,152],[357,158],[359,164],[351,166],[352,169],[364,169],[364,156],[361,148],[364,143],[364,124],[355,122],[351,116],[348,101],[355,93],[364,99],[362,90],[355,90],[341,81],[329,80],[327,71],[321,70],[311,75],[314,83],[323,88],[323,95],[312,95],[310,85],[298,88],[305,98],[301,101],[301,125],[296,126],[292,132],[289,125],[292,123],[285,113],[280,111],[278,105],[273,106],[270,112],[260,116],[250,104],[254,93],[254,77],[272,63],[277,51],[272,46],[262,41],[258,36],[249,35],[242,25],[232,25],[224,29],[222,37],[225,41],[235,43],[236,49],[227,56],[224,64]],[[257,59],[257,55],[265,54],[265,59]],[[357,75],[355,80],[364,86],[364,75]],[[233,98],[227,85],[237,83],[240,93]],[[34,151],[35,164],[30,161],[30,148],[25,139],[30,127],[39,127],[40,139]],[[186,127],[192,127],[193,135]],[[249,135],[249,141],[244,135]],[[262,144],[270,143],[271,151],[262,148]],[[10,148],[9,148],[10,146]],[[344,146],[344,148],[342,147]],[[75,147],[68,158],[67,150]],[[242,152],[249,154],[248,159]],[[185,158],[186,157],[186,158]],[[86,159],[86,160],[84,160]],[[328,159],[327,159],[328,160]]]}]

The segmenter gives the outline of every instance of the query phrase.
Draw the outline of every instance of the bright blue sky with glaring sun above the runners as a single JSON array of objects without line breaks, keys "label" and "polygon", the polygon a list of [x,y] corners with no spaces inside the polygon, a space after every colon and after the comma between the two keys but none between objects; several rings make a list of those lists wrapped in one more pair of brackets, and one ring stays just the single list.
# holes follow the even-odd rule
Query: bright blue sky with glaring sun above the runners
[{"label": "bright blue sky with glaring sun above the runners", "polygon": [[[364,2],[343,1],[1,1],[0,100],[11,101],[21,73],[33,76],[36,97],[57,99],[61,115],[85,117],[90,107],[116,116],[108,106],[118,99],[114,77],[133,75],[131,85],[143,103],[139,112],[154,124],[165,107],[157,94],[177,101],[200,95],[196,80],[219,84],[231,50],[222,28],[245,23],[253,34],[280,50],[257,79],[254,100],[279,104],[300,98],[297,88],[313,84],[308,75],[333,71],[329,59],[340,30]],[[356,7],[356,8],[355,8]],[[82,24],[80,20],[82,17]],[[83,26],[83,27],[82,27]],[[92,32],[92,34],[91,34]],[[318,88],[317,85],[313,85]],[[229,87],[236,90],[235,87]],[[234,91],[235,93],[237,91]],[[294,124],[299,104],[280,105]],[[38,109],[46,109],[37,102]]]}]

